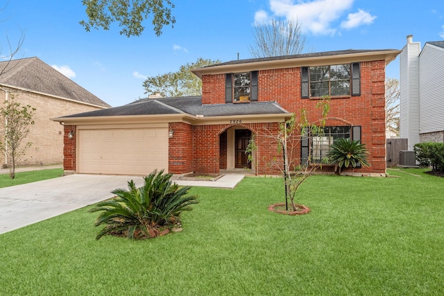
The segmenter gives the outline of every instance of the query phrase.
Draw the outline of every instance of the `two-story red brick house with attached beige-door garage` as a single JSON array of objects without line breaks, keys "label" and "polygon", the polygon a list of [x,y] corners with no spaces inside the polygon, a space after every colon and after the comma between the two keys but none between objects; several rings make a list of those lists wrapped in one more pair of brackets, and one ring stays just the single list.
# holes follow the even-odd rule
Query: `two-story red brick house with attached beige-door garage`
[{"label": "two-story red brick house with attached beige-door garage", "polygon": [[[311,122],[321,96],[331,96],[325,137],[317,139],[325,157],[333,139],[359,139],[370,152],[369,168],[348,173],[385,175],[385,67],[398,50],[347,50],[234,60],[194,69],[202,96],[142,99],[121,107],[60,116],[65,124],[65,171],[146,175],[221,173],[252,164],[245,154],[255,137],[259,175],[276,174],[267,165],[282,159],[275,141],[279,124],[305,108]],[[316,147],[316,146],[315,146]],[[313,149],[304,140],[296,158]],[[333,171],[333,166],[323,166]]]}]

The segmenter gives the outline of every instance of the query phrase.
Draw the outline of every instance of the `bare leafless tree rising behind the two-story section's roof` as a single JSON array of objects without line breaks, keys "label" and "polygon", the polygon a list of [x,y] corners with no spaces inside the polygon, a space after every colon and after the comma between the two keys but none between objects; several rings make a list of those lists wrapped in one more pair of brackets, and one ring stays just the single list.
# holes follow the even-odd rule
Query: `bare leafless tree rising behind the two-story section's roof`
[{"label": "bare leafless tree rising behind the two-story section's roof", "polygon": [[273,19],[270,23],[256,24],[253,34],[255,45],[249,49],[255,58],[297,55],[305,49],[305,35],[298,21]]}]

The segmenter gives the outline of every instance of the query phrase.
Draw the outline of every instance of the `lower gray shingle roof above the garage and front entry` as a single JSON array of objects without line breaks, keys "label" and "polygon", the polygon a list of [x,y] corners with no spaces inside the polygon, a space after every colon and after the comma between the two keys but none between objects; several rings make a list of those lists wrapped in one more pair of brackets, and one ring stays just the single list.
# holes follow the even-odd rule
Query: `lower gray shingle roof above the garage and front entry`
[{"label": "lower gray shingle roof above the garage and front entry", "polygon": [[275,102],[250,102],[202,105],[202,96],[185,96],[179,98],[144,98],[128,105],[73,114],[65,117],[89,116],[131,116],[131,115],[161,115],[189,114],[203,116],[229,115],[262,115],[288,113]]}]

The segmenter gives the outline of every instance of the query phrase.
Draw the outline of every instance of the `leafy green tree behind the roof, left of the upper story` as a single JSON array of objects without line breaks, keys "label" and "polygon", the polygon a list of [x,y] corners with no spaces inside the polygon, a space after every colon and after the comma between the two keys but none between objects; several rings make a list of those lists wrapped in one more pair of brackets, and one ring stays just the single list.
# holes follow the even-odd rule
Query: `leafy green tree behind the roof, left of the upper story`
[{"label": "leafy green tree behind the roof, left of the upper story", "polygon": [[196,62],[180,66],[176,72],[169,72],[151,76],[144,81],[145,94],[160,94],[164,97],[173,96],[200,96],[202,95],[202,80],[191,69],[210,66],[219,63],[219,60],[198,58]]}]

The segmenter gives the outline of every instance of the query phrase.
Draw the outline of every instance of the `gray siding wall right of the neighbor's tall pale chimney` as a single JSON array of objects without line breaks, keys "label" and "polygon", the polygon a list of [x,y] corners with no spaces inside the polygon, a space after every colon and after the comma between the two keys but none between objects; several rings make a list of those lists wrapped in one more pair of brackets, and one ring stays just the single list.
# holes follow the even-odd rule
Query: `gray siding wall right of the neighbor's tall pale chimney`
[{"label": "gray siding wall right of the neighbor's tall pale chimney", "polygon": [[425,44],[420,56],[420,133],[444,130],[444,49]]}]

